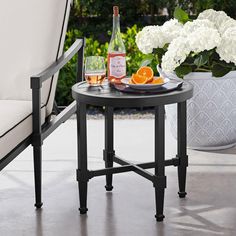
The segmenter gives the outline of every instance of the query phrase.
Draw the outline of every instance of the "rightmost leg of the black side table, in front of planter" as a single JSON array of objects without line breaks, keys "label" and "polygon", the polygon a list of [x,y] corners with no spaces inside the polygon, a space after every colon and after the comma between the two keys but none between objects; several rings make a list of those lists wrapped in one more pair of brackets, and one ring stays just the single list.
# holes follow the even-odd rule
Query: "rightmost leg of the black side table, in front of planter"
[{"label": "rightmost leg of the black side table, in front of planter", "polygon": [[187,156],[187,135],[186,135],[186,102],[178,103],[178,118],[177,118],[177,157],[179,158],[178,166],[178,182],[179,182],[179,197],[186,196],[186,173],[188,166]]}]

